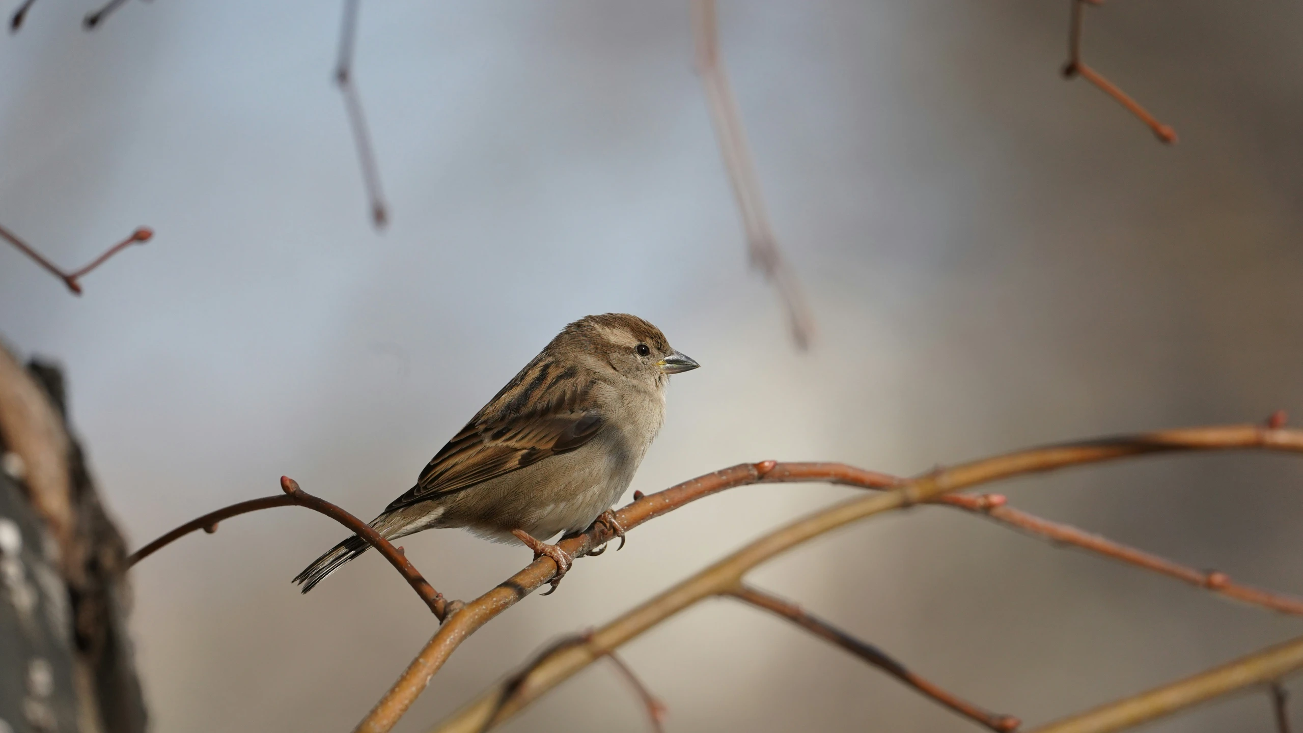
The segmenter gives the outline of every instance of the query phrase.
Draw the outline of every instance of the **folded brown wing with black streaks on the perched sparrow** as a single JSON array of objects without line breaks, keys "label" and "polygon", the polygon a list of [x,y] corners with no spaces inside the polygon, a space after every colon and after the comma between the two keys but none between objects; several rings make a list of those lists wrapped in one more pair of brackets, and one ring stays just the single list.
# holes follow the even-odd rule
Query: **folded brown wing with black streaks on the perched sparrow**
[{"label": "folded brown wing with black streaks on the perched sparrow", "polygon": [[555,374],[554,366],[521,370],[386,512],[470,488],[593,440],[603,421],[588,398],[590,385],[569,370]]}]

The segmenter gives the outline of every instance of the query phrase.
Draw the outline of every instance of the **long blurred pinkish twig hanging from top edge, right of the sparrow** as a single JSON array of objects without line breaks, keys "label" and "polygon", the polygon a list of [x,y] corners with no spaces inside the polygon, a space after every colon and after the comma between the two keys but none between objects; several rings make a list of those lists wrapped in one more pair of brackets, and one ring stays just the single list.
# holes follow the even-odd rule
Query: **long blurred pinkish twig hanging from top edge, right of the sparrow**
[{"label": "long blurred pinkish twig hanging from top edge, right of the sparrow", "polygon": [[792,339],[799,348],[805,349],[814,336],[814,319],[810,316],[800,281],[778,250],[778,238],[765,211],[765,199],[760,193],[760,178],[752,164],[751,146],[741,126],[737,100],[719,60],[714,0],[692,0],[692,35],[696,44],[697,73],[701,76],[710,118],[719,138],[719,154],[724,159],[728,181],[732,184],[737,208],[741,211],[751,262],[774,284],[787,307]]}]

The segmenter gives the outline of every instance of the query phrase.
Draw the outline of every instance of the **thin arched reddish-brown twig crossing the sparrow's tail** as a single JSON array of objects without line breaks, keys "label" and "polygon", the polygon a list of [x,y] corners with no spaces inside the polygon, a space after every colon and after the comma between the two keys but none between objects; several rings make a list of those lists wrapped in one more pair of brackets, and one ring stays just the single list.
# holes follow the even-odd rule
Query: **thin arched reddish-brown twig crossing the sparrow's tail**
[{"label": "thin arched reddish-brown twig crossing the sparrow's tail", "polygon": [[136,565],[141,560],[149,557],[160,548],[176,542],[177,539],[197,531],[205,530],[207,532],[218,531],[218,522],[235,517],[238,514],[245,514],[248,512],[257,512],[258,509],[271,509],[274,506],[306,506],[314,512],[326,514],[331,519],[344,525],[353,531],[357,536],[366,540],[367,544],[375,548],[377,552],[384,556],[390,561],[390,565],[407,579],[412,590],[416,591],[421,600],[430,607],[430,612],[442,622],[448,613],[456,611],[459,602],[448,602],[443,598],[443,594],[434,590],[434,587],[417,572],[412,561],[407,559],[407,555],[394,547],[390,540],[379,535],[374,529],[371,529],[366,522],[358,519],[353,514],[349,514],[344,509],[313,496],[298,487],[298,483],[289,477],[280,477],[280,488],[285,492],[284,496],[267,496],[263,499],[253,499],[250,501],[241,501],[240,504],[232,504],[224,509],[218,509],[199,517],[198,519],[186,522],[180,527],[167,532],[165,535],[158,538],[156,540],[146,544],[141,549],[137,549],[128,557],[128,566]]}]

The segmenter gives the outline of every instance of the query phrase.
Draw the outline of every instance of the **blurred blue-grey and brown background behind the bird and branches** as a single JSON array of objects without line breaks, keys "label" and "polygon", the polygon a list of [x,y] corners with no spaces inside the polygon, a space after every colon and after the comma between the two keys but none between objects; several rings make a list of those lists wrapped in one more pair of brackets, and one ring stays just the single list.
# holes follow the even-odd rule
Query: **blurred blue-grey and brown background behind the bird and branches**
[{"label": "blurred blue-grey and brown background behind the bird and branches", "polygon": [[[0,247],[0,333],[66,366],[133,547],[276,493],[281,474],[369,518],[562,325],[612,310],[702,363],[674,380],[632,487],[645,492],[761,458],[908,474],[1303,415],[1298,3],[1089,10],[1087,60],[1175,126],[1175,147],[1058,76],[1066,1],[722,3],[775,229],[820,325],[807,354],[747,267],[685,3],[365,3],[356,79],[391,204],[382,234],[331,85],[336,3],[129,3],[86,34],[90,8],[40,0],[0,39],[0,223],[68,267],[137,225],[158,234],[81,298]],[[1303,592],[1300,480],[1296,457],[1244,454],[995,491]],[[474,635],[400,730],[851,493],[744,488],[637,530]],[[374,553],[300,596],[289,578],[340,536],[278,509],[134,570],[155,730],[345,730],[369,710],[434,622]],[[459,531],[404,544],[453,598],[529,560]],[[1303,630],[938,508],[843,530],[753,579],[1028,723]],[[668,730],[973,729],[730,602],[625,657]],[[511,729],[646,723],[597,665]],[[1152,729],[1273,726],[1250,694]]]}]

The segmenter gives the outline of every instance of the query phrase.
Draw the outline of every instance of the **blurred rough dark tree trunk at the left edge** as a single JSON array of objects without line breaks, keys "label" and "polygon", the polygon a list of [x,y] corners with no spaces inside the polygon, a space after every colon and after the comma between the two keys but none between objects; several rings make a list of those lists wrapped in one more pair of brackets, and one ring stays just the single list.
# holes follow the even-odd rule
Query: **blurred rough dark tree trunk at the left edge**
[{"label": "blurred rough dark tree trunk at the left edge", "polygon": [[[8,354],[0,354],[0,358]],[[66,423],[64,379],[33,362],[30,379],[68,434],[72,529],[56,538],[51,517],[23,482],[7,443],[23,424],[0,424],[0,719],[14,733],[143,733],[145,702],[126,633],[126,546],[108,518],[81,447]],[[0,726],[0,732],[4,728]]]}]

